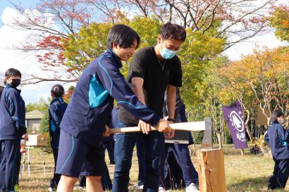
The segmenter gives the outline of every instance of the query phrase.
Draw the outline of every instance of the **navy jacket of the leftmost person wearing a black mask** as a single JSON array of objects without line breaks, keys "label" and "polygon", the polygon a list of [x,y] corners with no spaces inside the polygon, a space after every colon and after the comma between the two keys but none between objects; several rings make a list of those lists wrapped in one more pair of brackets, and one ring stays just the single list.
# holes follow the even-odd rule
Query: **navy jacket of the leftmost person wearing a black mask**
[{"label": "navy jacket of the leftmost person wearing a black mask", "polygon": [[26,134],[25,103],[20,90],[6,84],[0,100],[0,140],[21,139]]}]

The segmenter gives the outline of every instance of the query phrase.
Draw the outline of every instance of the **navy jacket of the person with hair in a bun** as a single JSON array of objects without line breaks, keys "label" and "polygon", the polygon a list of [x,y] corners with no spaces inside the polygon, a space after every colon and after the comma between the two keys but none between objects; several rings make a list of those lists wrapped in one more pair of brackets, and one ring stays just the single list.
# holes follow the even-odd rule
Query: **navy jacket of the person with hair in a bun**
[{"label": "navy jacket of the person with hair in a bun", "polygon": [[62,98],[54,98],[49,106],[49,134],[51,148],[59,148],[60,123],[66,112],[67,103]]}]

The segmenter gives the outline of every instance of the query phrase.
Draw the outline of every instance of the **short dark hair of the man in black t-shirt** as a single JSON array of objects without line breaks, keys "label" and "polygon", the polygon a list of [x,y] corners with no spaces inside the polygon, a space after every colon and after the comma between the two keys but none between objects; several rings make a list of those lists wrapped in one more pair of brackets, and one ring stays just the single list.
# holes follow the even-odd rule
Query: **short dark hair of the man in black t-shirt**
[{"label": "short dark hair of the man in black t-shirt", "polygon": [[161,38],[166,39],[174,39],[177,41],[185,41],[187,37],[187,32],[185,32],[185,28],[172,23],[166,23],[161,27]]}]

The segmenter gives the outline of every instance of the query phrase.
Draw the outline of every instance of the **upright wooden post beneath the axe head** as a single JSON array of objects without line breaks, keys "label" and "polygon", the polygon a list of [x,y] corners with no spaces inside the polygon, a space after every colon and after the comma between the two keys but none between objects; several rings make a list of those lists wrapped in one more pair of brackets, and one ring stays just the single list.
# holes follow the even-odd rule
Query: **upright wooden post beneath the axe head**
[{"label": "upright wooden post beneath the axe head", "polygon": [[197,151],[199,191],[226,192],[225,167],[222,149]]}]

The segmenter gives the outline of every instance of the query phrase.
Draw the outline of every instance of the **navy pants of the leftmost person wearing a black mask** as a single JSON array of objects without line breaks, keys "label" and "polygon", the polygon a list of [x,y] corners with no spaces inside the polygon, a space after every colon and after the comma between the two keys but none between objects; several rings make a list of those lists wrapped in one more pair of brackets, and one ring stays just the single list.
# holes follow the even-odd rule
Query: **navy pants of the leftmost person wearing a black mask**
[{"label": "navy pants of the leftmost person wearing a black mask", "polygon": [[20,140],[2,140],[0,143],[0,191],[14,191],[20,171]]}]

